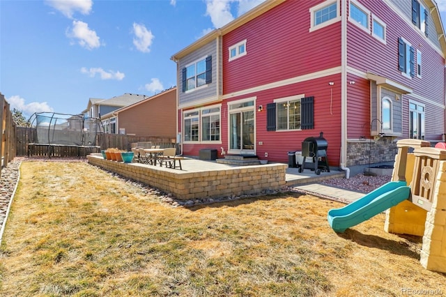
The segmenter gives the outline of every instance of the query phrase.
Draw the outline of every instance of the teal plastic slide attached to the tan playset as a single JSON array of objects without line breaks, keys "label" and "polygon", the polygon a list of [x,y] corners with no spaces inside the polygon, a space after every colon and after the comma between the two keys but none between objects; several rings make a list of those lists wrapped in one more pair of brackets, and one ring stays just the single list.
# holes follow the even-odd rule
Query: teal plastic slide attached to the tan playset
[{"label": "teal plastic slide attached to the tan playset", "polygon": [[342,233],[408,199],[409,195],[410,187],[406,181],[391,181],[351,204],[331,209],[328,211],[328,223],[334,231]]}]

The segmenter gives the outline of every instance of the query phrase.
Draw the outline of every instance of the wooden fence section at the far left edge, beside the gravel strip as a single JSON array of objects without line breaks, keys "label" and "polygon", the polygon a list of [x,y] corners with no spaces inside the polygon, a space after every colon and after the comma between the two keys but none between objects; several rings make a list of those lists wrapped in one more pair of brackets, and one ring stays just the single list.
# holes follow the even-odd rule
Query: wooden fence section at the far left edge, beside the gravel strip
[{"label": "wooden fence section at the far left edge, beside the gravel strip", "polygon": [[[13,121],[13,114],[10,111],[9,103],[5,100],[5,96],[0,93],[0,119],[1,119],[1,167],[8,166],[8,162],[12,161],[16,155],[15,133],[16,126]],[[1,176],[1,172],[0,172]]]}]

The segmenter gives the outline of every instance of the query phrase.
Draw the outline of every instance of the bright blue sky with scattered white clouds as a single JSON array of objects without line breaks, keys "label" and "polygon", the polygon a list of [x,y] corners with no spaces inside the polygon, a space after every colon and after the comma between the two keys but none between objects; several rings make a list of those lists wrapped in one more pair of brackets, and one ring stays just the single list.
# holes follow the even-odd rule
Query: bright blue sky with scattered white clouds
[{"label": "bright blue sky with scattered white clouds", "polygon": [[0,92],[25,116],[152,96],[176,85],[173,54],[262,1],[0,0]]}]

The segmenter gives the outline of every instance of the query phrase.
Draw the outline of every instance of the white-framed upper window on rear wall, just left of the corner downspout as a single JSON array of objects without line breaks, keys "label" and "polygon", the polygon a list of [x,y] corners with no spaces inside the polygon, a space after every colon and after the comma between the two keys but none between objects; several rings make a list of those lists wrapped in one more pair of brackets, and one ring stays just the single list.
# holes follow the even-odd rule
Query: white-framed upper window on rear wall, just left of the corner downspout
[{"label": "white-framed upper window on rear wall, just left of the corner downspout", "polygon": [[337,0],[328,0],[309,9],[310,29],[314,31],[341,20]]}]

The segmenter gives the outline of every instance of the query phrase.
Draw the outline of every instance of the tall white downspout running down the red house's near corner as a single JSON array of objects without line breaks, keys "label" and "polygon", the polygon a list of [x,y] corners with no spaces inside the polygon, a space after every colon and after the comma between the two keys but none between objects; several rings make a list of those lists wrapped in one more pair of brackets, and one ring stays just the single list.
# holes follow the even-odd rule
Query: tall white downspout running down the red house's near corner
[{"label": "tall white downspout running down the red house's near corner", "polygon": [[341,0],[341,164],[350,178],[347,162],[347,0]]}]

